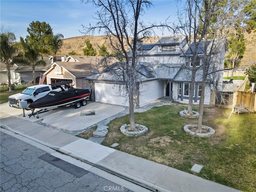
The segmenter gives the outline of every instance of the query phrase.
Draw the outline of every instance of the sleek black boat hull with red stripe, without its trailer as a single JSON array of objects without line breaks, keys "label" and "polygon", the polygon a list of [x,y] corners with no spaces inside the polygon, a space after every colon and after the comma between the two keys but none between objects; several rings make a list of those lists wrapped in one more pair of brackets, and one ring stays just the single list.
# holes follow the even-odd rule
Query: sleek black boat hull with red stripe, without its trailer
[{"label": "sleek black boat hull with red stripe, without its trailer", "polygon": [[48,108],[71,104],[90,96],[87,89],[72,89],[65,92],[51,91],[46,96],[32,102],[30,108]]}]

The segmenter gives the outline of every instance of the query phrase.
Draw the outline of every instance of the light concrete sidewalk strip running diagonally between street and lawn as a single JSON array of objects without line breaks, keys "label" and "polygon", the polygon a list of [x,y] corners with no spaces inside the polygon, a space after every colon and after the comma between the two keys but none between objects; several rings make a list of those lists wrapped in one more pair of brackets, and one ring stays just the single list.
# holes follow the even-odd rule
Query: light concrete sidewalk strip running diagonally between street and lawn
[{"label": "light concrete sidewalk strip running diagonally between street and lawn", "polygon": [[238,192],[233,188],[2,111],[0,116],[1,128],[6,128],[49,146],[148,190],[158,192]]}]

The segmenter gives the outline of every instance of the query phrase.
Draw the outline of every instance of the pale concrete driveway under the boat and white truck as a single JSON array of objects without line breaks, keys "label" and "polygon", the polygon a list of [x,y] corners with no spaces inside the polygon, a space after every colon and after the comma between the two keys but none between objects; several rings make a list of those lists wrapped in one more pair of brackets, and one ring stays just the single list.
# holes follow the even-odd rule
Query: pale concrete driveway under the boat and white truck
[{"label": "pale concrete driveway under the boat and white truck", "polygon": [[[6,114],[31,122],[41,120],[45,124],[68,131],[84,130],[102,120],[122,112],[123,110],[125,110],[125,108],[122,106],[88,102],[86,106],[81,106],[80,108],[74,108],[74,106],[58,108],[39,114],[39,118],[36,118],[36,116],[31,116],[29,118],[28,114],[30,114],[31,111],[24,110],[25,117],[23,117],[22,109],[12,108],[8,103],[0,104],[0,111]],[[89,111],[95,111],[95,115],[84,115]]]}]

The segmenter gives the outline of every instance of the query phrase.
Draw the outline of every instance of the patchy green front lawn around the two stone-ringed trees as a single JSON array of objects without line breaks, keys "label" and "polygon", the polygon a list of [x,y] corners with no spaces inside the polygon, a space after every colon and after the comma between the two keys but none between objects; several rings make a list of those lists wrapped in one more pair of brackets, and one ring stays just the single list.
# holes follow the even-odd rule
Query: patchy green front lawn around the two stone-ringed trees
[{"label": "patchy green front lawn around the two stone-ringed trees", "polygon": [[[112,120],[102,145],[142,157],[178,170],[195,174],[245,192],[256,191],[256,115],[232,114],[231,109],[205,108],[203,125],[214,128],[212,138],[197,138],[186,134],[186,124],[196,119],[182,118],[184,107],[167,105],[143,113],[135,113],[136,123],[149,131],[139,137],[120,133],[122,124],[129,124],[129,115]],[[197,108],[193,110],[197,111]],[[88,139],[92,128],[79,136]],[[238,146],[236,146],[238,144]],[[190,171],[194,164],[203,166],[199,174]]]}]

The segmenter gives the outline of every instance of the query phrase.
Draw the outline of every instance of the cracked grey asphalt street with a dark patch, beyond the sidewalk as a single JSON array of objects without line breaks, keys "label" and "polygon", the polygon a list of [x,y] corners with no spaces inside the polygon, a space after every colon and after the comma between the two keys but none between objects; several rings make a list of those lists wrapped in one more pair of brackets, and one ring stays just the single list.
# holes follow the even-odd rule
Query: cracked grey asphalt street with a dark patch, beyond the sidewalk
[{"label": "cracked grey asphalt street with a dark patch, beyond the sidewalk", "polygon": [[[19,137],[22,140],[18,139]],[[139,186],[102,170],[97,170],[98,168],[79,160],[72,158],[73,160],[69,160],[72,163],[62,160],[63,158],[58,158],[58,156],[67,159],[71,157],[55,152],[45,146],[38,148],[40,144],[35,143],[1,128],[0,191],[132,192],[132,190],[126,188],[127,186],[133,188],[134,191],[140,190]],[[104,178],[88,170],[94,170]]]}]

